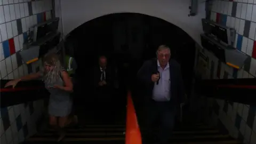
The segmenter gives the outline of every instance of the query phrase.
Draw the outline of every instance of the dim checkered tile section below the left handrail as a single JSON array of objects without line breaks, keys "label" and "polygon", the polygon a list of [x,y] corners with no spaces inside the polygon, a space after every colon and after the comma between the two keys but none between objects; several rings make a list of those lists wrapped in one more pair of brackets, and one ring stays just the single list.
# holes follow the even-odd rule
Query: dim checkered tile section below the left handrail
[{"label": "dim checkered tile section below the left handrail", "polygon": [[38,119],[42,117],[43,100],[1,108],[1,144],[20,143],[36,133]]}]

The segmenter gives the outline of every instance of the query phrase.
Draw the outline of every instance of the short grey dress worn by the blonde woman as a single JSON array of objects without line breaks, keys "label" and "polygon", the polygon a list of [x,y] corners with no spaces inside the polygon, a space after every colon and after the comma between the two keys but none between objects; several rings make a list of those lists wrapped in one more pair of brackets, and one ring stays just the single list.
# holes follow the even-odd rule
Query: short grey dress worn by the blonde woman
[{"label": "short grey dress worn by the blonde woman", "polygon": [[64,82],[61,76],[58,78],[56,83],[46,83],[45,87],[50,92],[50,100],[48,106],[48,113],[51,116],[63,117],[68,116],[72,108],[72,99],[70,98],[70,93],[60,89],[55,89],[49,86],[60,85],[63,86]]}]

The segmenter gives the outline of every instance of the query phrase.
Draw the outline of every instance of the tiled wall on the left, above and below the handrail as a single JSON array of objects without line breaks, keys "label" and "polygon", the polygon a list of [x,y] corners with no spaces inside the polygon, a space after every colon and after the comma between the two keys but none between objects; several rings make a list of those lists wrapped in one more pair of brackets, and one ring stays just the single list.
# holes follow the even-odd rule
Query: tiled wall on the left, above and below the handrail
[{"label": "tiled wall on the left, above and below the handrail", "polygon": [[[0,0],[1,79],[18,78],[36,71],[39,62],[25,65],[19,52],[27,40],[29,27],[51,17],[51,0]],[[1,108],[0,143],[18,143],[35,133],[35,123],[42,111],[42,100]]]}]

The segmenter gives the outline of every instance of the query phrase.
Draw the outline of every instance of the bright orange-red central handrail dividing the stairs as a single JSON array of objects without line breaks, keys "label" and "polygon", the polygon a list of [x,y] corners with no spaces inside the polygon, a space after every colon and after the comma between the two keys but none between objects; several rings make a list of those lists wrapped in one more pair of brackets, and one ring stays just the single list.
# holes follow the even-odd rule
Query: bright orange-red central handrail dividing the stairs
[{"label": "bright orange-red central handrail dividing the stairs", "polygon": [[133,106],[131,92],[127,93],[125,144],[141,144],[141,133]]}]

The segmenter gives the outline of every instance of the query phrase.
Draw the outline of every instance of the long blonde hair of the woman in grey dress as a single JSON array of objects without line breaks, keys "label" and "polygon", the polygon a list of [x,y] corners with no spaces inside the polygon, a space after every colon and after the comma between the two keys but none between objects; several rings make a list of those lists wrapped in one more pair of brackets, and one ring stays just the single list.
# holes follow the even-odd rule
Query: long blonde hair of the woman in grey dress
[{"label": "long blonde hair of the woman in grey dress", "polygon": [[43,81],[45,83],[55,83],[60,78],[61,71],[63,70],[59,55],[52,53],[48,54],[43,59],[43,65],[50,65],[53,68],[50,71],[42,69]]}]

